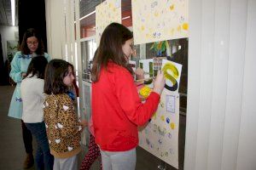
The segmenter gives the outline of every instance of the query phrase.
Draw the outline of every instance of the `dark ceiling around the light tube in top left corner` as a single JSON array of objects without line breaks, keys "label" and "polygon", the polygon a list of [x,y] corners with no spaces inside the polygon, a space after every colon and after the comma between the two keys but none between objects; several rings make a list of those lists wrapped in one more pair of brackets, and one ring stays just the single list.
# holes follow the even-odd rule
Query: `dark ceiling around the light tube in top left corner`
[{"label": "dark ceiling around the light tube in top left corner", "polygon": [[[15,0],[16,12],[15,12],[15,26],[17,26],[17,4],[18,0]],[[13,26],[12,25],[12,11],[11,0],[0,0],[0,26]]]}]

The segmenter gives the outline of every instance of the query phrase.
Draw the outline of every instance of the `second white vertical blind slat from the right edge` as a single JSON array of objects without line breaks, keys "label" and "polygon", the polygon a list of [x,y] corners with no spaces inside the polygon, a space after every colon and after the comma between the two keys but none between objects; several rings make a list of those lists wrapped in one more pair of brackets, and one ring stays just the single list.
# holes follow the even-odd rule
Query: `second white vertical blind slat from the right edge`
[{"label": "second white vertical blind slat from the right edge", "polygon": [[247,3],[244,0],[231,1],[230,9],[229,72],[221,169],[236,169],[244,75],[242,56],[245,54],[247,33]]}]

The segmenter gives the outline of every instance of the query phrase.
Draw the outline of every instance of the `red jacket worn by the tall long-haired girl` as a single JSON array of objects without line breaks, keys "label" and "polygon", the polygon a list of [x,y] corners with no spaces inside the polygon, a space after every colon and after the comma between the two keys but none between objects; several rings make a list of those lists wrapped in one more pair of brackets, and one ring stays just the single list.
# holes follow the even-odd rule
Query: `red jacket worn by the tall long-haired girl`
[{"label": "red jacket worn by the tall long-haired girl", "polygon": [[125,151],[138,144],[137,126],[148,122],[160,101],[152,92],[143,104],[131,73],[108,63],[98,82],[92,83],[92,114],[96,144],[102,150]]}]

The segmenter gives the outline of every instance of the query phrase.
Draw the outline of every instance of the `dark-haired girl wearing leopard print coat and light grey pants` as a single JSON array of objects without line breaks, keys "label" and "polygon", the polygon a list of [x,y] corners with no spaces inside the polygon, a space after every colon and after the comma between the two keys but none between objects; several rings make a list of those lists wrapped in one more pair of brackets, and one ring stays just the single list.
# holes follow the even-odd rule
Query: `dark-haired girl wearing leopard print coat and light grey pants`
[{"label": "dark-haired girl wearing leopard print coat and light grey pants", "polygon": [[67,95],[73,84],[73,70],[67,61],[52,59],[46,67],[44,93],[44,122],[50,153],[55,156],[55,170],[76,170],[80,139],[86,122],[79,122],[73,101]]}]

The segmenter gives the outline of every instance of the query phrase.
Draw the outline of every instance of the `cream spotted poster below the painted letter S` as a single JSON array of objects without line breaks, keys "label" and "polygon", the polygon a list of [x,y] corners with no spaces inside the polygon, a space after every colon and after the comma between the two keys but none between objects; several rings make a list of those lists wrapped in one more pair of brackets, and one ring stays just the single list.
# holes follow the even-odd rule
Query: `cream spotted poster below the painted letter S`
[{"label": "cream spotted poster below the painted letter S", "polygon": [[139,131],[139,145],[178,168],[178,127],[179,94],[165,88],[158,110],[148,125]]}]

